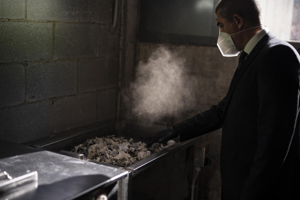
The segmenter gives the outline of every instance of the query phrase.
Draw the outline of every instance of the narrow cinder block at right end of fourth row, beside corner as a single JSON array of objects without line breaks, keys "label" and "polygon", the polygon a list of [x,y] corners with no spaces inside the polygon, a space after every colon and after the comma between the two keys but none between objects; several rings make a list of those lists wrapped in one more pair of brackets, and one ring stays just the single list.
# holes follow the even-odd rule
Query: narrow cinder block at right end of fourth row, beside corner
[{"label": "narrow cinder block at right end of fourth row, beside corner", "polygon": [[117,89],[109,89],[98,93],[98,121],[117,118]]}]

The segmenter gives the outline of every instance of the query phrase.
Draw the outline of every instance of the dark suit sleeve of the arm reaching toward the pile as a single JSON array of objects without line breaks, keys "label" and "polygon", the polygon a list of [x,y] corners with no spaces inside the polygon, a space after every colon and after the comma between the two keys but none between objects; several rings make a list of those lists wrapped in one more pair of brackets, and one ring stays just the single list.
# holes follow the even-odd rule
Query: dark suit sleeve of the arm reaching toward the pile
[{"label": "dark suit sleeve of the arm reaching toward the pile", "polygon": [[175,131],[179,134],[180,141],[183,142],[221,128],[224,99],[209,110],[176,124]]}]

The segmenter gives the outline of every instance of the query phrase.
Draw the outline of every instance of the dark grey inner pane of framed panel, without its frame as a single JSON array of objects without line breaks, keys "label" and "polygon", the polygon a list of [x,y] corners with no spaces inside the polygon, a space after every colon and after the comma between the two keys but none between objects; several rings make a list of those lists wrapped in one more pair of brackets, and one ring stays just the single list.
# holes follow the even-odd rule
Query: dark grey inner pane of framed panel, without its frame
[{"label": "dark grey inner pane of framed panel, without its frame", "polygon": [[147,1],[147,31],[211,36],[212,0]]}]

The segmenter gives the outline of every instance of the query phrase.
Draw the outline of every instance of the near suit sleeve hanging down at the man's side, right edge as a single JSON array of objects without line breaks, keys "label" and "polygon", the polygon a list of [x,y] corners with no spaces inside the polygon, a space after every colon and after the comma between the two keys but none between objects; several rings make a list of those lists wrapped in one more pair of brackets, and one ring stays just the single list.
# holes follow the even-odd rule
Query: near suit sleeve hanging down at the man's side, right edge
[{"label": "near suit sleeve hanging down at the man's side, right edge", "polygon": [[[289,151],[299,110],[299,56],[270,48],[258,66],[257,150],[241,199],[268,199]],[[295,134],[296,136],[296,134]]]}]

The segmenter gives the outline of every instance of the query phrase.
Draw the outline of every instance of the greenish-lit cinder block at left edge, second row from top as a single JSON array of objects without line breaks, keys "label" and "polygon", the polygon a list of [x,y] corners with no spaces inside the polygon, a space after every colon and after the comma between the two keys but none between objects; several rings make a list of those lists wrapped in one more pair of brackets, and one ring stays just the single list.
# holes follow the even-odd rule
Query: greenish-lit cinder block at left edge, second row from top
[{"label": "greenish-lit cinder block at left edge, second row from top", "polygon": [[0,22],[0,63],[52,59],[52,26]]}]

